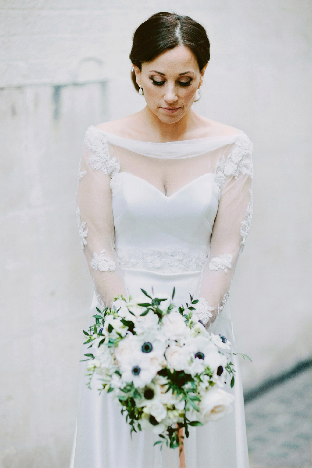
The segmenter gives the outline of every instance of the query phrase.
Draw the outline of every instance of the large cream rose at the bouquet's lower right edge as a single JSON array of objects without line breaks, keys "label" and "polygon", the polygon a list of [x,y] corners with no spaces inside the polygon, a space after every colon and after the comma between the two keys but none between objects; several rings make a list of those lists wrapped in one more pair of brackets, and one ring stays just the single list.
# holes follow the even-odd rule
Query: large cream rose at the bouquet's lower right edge
[{"label": "large cream rose at the bouquet's lower right edge", "polygon": [[218,421],[232,411],[233,395],[221,388],[213,387],[203,394],[199,403],[200,417],[203,424],[208,421]]}]

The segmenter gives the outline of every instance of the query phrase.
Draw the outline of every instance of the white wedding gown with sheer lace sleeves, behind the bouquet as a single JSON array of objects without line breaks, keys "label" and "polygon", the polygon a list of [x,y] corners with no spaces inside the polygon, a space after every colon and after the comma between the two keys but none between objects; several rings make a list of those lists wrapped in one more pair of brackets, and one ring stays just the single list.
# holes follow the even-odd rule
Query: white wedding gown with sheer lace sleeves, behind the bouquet
[{"label": "white wedding gown with sheer lace sleeves, behind the bouquet", "polygon": [[[77,217],[94,282],[95,307],[140,288],[201,299],[201,319],[234,350],[228,295],[252,217],[253,145],[244,132],[168,143],[125,139],[88,128],[79,168]],[[87,352],[84,346],[83,352]],[[81,356],[83,358],[83,356]],[[234,357],[232,413],[190,429],[187,468],[248,468],[244,403]],[[70,468],[179,468],[177,449],[132,433],[111,394],[87,388],[80,402]]]}]

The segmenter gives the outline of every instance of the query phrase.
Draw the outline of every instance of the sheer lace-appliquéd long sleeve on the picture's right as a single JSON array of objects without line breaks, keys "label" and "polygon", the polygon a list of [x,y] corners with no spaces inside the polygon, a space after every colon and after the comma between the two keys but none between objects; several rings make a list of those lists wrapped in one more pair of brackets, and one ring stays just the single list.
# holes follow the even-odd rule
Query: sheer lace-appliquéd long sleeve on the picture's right
[{"label": "sheer lace-appliqu\u00e9d long sleeve on the picture's right", "polygon": [[228,300],[253,214],[252,150],[253,144],[242,134],[216,164],[215,180],[220,189],[220,201],[211,234],[210,254],[196,289],[198,314],[211,331]]}]

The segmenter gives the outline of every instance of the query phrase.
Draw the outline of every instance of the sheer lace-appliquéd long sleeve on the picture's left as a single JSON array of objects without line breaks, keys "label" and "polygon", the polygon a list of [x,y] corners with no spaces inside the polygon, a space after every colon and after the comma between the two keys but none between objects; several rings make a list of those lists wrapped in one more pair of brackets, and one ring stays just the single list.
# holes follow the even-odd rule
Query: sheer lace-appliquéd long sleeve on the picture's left
[{"label": "sheer lace-appliqu\u00e9d long sleeve on the picture's left", "polygon": [[79,167],[77,219],[81,248],[102,308],[111,306],[119,294],[128,296],[115,252],[111,184],[118,170],[106,139],[88,129]]}]

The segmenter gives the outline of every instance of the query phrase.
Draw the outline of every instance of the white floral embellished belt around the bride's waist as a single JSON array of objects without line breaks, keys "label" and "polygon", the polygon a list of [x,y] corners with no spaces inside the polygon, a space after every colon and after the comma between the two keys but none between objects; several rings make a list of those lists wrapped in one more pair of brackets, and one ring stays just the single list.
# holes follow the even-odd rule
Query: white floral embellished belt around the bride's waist
[{"label": "white floral embellished belt around the bride's waist", "polygon": [[116,255],[122,268],[162,271],[201,271],[208,258],[209,249],[190,250],[180,247],[166,249],[117,249]]}]

